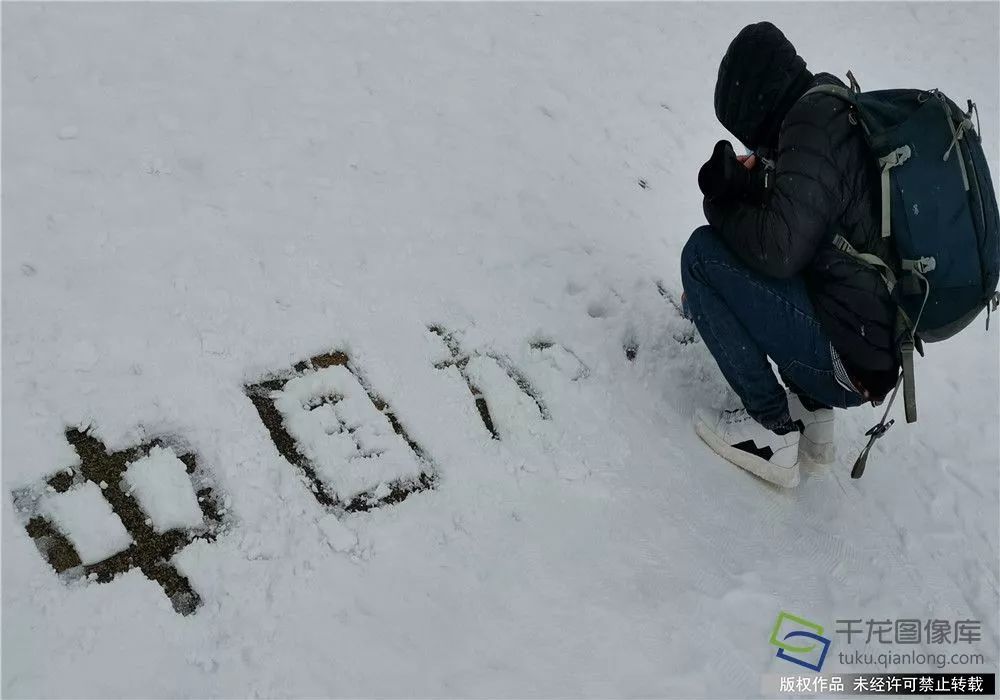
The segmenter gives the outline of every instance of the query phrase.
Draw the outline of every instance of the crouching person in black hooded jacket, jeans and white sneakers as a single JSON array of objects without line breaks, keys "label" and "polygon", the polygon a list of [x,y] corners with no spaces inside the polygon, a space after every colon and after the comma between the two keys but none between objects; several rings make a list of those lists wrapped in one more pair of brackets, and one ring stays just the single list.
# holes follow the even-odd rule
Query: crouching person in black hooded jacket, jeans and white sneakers
[{"label": "crouching person in black hooded jacket, jeans and white sneakers", "polygon": [[[753,152],[720,142],[698,175],[708,226],[681,256],[687,312],[743,408],[699,410],[698,435],[780,486],[801,452],[833,459],[833,410],[896,385],[896,307],[878,272],[833,245],[878,249],[879,173],[848,106],[772,24],[743,29],[719,67],[715,112]],[[768,358],[788,387],[775,377]]]}]

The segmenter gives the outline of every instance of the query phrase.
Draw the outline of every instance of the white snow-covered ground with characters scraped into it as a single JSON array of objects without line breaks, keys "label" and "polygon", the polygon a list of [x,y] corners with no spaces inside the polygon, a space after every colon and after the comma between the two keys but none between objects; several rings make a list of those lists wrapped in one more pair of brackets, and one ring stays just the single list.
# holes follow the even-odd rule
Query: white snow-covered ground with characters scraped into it
[{"label": "white snow-covered ground with characters scraped into it", "polygon": [[[744,24],[976,98],[995,155],[995,3],[2,11],[4,696],[748,697],[796,670],[779,610],[981,620],[996,670],[1000,329],[928,348],[864,479],[867,407],[784,492],[694,435],[731,397],[657,286]],[[345,497],[433,488],[335,512],[276,449],[244,386],[334,351],[386,406],[343,368],[286,388],[303,449]],[[78,466],[81,424],[211,474],[223,532],[172,561],[194,614],[139,569],[61,580],[28,536],[11,494]],[[137,467],[153,525],[198,521],[173,455]],[[100,557],[128,534],[92,486],[43,501]]]}]

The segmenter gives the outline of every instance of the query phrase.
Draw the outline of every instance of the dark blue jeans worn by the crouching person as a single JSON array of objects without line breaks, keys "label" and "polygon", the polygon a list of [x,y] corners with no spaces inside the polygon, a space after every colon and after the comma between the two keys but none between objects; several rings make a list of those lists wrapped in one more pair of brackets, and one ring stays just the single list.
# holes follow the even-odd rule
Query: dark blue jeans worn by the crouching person
[{"label": "dark blue jeans worn by the crouching person", "polygon": [[681,253],[687,305],[705,345],[747,412],[768,428],[789,423],[788,387],[810,409],[864,403],[837,382],[830,341],[801,277],[775,279],[754,272],[730,252],[710,226],[691,234]]}]

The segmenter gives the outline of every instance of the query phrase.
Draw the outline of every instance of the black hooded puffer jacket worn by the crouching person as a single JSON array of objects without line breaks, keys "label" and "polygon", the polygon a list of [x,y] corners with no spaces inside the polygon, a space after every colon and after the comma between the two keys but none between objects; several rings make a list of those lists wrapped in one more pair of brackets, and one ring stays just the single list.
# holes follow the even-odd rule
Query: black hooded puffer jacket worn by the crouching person
[{"label": "black hooded puffer jacket worn by the crouching person", "polygon": [[892,390],[896,306],[878,273],[832,244],[888,255],[879,229],[879,173],[861,127],[841,100],[804,96],[813,76],[768,22],[746,27],[719,67],[715,110],[745,146],[774,162],[762,201],[705,200],[705,216],[750,268],[771,277],[802,275],[816,312],[848,374],[871,398]]}]

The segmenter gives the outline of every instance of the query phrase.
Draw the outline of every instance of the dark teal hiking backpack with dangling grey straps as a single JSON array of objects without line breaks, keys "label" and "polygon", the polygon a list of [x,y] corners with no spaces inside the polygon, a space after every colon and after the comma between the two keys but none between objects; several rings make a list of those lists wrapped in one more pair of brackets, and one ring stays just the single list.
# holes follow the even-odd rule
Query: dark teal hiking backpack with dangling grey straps
[{"label": "dark teal hiking backpack with dangling grey straps", "polygon": [[[834,245],[878,269],[899,307],[896,343],[902,371],[882,420],[866,435],[868,444],[851,476],[861,477],[868,453],[894,421],[886,422],[900,384],[907,423],[917,420],[913,352],[924,342],[945,340],[968,326],[983,310],[1000,304],[1000,215],[979,136],[979,113],[972,100],[962,111],[940,90],[861,92],[820,85],[806,94],[825,93],[851,105],[881,171],[882,237],[894,254],[881,259],[855,250],[842,236]],[[973,117],[976,123],[973,123]]]}]

